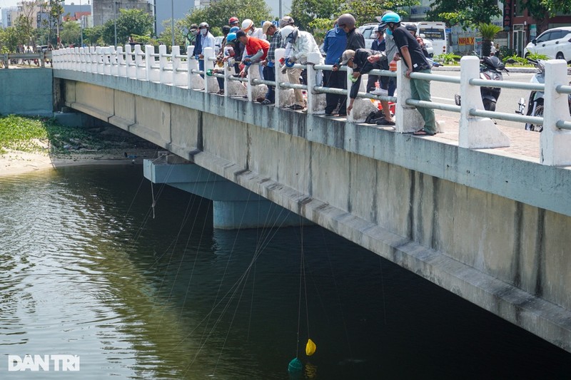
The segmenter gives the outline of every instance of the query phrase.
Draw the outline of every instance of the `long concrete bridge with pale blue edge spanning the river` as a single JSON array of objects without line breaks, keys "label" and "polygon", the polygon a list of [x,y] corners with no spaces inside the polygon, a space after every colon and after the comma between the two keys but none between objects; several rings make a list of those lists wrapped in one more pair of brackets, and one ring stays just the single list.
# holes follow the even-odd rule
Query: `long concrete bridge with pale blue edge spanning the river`
[{"label": "long concrete bridge with pale blue edge spanning the river", "polygon": [[[175,86],[65,62],[54,58],[66,106],[162,146],[146,177],[212,199],[218,227],[300,215],[571,351],[571,172],[560,165],[571,145],[556,128],[568,114],[545,115],[541,138],[526,135],[530,157],[517,141],[525,132],[510,142],[472,108],[457,131],[418,138],[399,133],[415,112],[405,101],[395,131],[217,96],[208,84],[193,91],[192,71]],[[510,148],[473,146],[506,137]]]}]

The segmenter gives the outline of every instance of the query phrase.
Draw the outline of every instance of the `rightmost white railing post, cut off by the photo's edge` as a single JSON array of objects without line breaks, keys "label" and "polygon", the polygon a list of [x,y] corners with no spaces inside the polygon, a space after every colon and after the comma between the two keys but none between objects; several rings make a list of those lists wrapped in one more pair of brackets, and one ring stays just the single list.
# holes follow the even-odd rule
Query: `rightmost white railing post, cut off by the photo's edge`
[{"label": "rightmost white railing post, cut off by the photo's edge", "polygon": [[571,130],[557,128],[557,121],[570,121],[566,93],[558,93],[557,86],[567,86],[567,62],[552,59],[545,63],[545,100],[543,130],[540,135],[540,163],[542,165],[571,165]]}]

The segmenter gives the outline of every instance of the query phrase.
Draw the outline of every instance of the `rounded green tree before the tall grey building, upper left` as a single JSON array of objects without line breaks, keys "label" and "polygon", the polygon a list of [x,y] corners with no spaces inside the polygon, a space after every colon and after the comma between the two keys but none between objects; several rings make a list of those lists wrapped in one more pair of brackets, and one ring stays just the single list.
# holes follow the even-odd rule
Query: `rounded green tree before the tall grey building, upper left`
[{"label": "rounded green tree before the tall grey building, upper left", "polygon": [[117,43],[123,45],[131,34],[146,36],[153,33],[153,18],[142,9],[119,9],[115,20],[108,20],[103,25],[103,41],[107,45],[115,43],[115,22],[117,23]]}]

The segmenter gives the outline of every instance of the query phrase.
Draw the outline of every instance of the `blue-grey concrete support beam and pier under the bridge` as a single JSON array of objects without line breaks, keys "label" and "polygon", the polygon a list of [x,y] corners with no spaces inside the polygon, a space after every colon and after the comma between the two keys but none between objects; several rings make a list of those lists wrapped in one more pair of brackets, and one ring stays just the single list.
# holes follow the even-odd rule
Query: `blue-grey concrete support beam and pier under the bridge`
[{"label": "blue-grey concrete support beam and pier under the bridge", "polygon": [[181,160],[173,155],[144,160],[145,178],[212,200],[214,228],[235,230],[312,224],[220,175]]}]

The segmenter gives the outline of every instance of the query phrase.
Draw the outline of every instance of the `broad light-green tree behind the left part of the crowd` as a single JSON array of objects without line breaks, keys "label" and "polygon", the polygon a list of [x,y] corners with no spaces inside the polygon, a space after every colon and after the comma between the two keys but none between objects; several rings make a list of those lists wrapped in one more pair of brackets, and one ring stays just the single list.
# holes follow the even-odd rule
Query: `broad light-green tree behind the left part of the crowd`
[{"label": "broad light-green tree behind the left part of the crowd", "polygon": [[264,0],[220,0],[211,2],[203,9],[193,10],[181,26],[183,30],[188,30],[191,24],[206,21],[211,28],[221,28],[228,25],[228,19],[232,16],[238,17],[240,21],[251,19],[256,27],[261,27],[263,21],[271,20],[270,8]]}]

